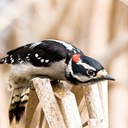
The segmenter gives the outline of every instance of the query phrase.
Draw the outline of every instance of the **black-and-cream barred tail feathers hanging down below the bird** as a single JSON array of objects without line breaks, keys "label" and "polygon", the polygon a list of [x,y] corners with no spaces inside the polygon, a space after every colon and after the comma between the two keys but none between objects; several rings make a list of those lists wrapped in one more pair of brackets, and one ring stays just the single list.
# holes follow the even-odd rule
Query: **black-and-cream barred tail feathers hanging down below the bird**
[{"label": "black-and-cream barred tail feathers hanging down below the bird", "polygon": [[29,98],[29,88],[14,88],[10,108],[9,108],[9,120],[12,123],[15,118],[18,123],[24,114],[26,103]]}]

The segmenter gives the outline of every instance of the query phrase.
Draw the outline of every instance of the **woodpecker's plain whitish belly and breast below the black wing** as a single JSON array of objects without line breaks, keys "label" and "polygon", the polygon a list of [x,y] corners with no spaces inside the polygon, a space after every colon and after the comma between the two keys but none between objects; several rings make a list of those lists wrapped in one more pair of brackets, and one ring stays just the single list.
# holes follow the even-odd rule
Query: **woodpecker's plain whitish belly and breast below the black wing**
[{"label": "woodpecker's plain whitish belly and breast below the black wing", "polygon": [[12,66],[11,75],[31,78],[36,75],[45,75],[51,79],[65,80],[64,61],[55,62],[50,67],[35,67],[30,63],[17,64]]}]

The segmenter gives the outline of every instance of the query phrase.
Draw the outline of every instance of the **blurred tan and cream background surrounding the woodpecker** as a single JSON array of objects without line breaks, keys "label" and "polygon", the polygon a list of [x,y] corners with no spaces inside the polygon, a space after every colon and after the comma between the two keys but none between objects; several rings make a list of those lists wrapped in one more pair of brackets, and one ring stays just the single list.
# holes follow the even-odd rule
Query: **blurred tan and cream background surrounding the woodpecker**
[{"label": "blurred tan and cream background surrounding the woodpecker", "polygon": [[[109,126],[128,128],[128,0],[0,0],[0,57],[47,38],[104,64],[116,79],[109,83]],[[9,128],[9,71],[0,65],[0,128]]]}]

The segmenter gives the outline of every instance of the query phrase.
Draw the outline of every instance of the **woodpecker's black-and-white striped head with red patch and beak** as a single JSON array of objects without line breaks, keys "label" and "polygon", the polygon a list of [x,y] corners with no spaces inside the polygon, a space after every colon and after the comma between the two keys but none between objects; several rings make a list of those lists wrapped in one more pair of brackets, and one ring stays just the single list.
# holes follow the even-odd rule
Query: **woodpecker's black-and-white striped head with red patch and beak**
[{"label": "woodpecker's black-and-white striped head with red patch and beak", "polygon": [[74,54],[66,69],[66,77],[73,84],[94,84],[103,80],[114,80],[95,59]]}]

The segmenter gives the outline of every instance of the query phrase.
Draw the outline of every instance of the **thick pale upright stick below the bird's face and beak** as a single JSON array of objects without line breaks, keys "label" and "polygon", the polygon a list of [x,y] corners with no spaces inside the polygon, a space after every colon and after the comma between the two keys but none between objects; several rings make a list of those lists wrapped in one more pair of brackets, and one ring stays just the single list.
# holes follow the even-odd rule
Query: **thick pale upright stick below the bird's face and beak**
[{"label": "thick pale upright stick below the bird's face and beak", "polygon": [[[86,98],[86,104],[89,114],[89,119],[91,119],[91,122],[89,120],[89,127],[90,128],[97,128],[98,126],[101,126],[100,128],[104,128],[104,114],[103,114],[103,108],[100,100],[99,90],[97,84],[93,84],[90,86],[85,87],[85,98]],[[98,123],[101,123],[100,125],[94,127],[92,126],[92,122],[98,120]],[[97,123],[94,123],[97,124]],[[99,128],[99,127],[98,127]]]}]

